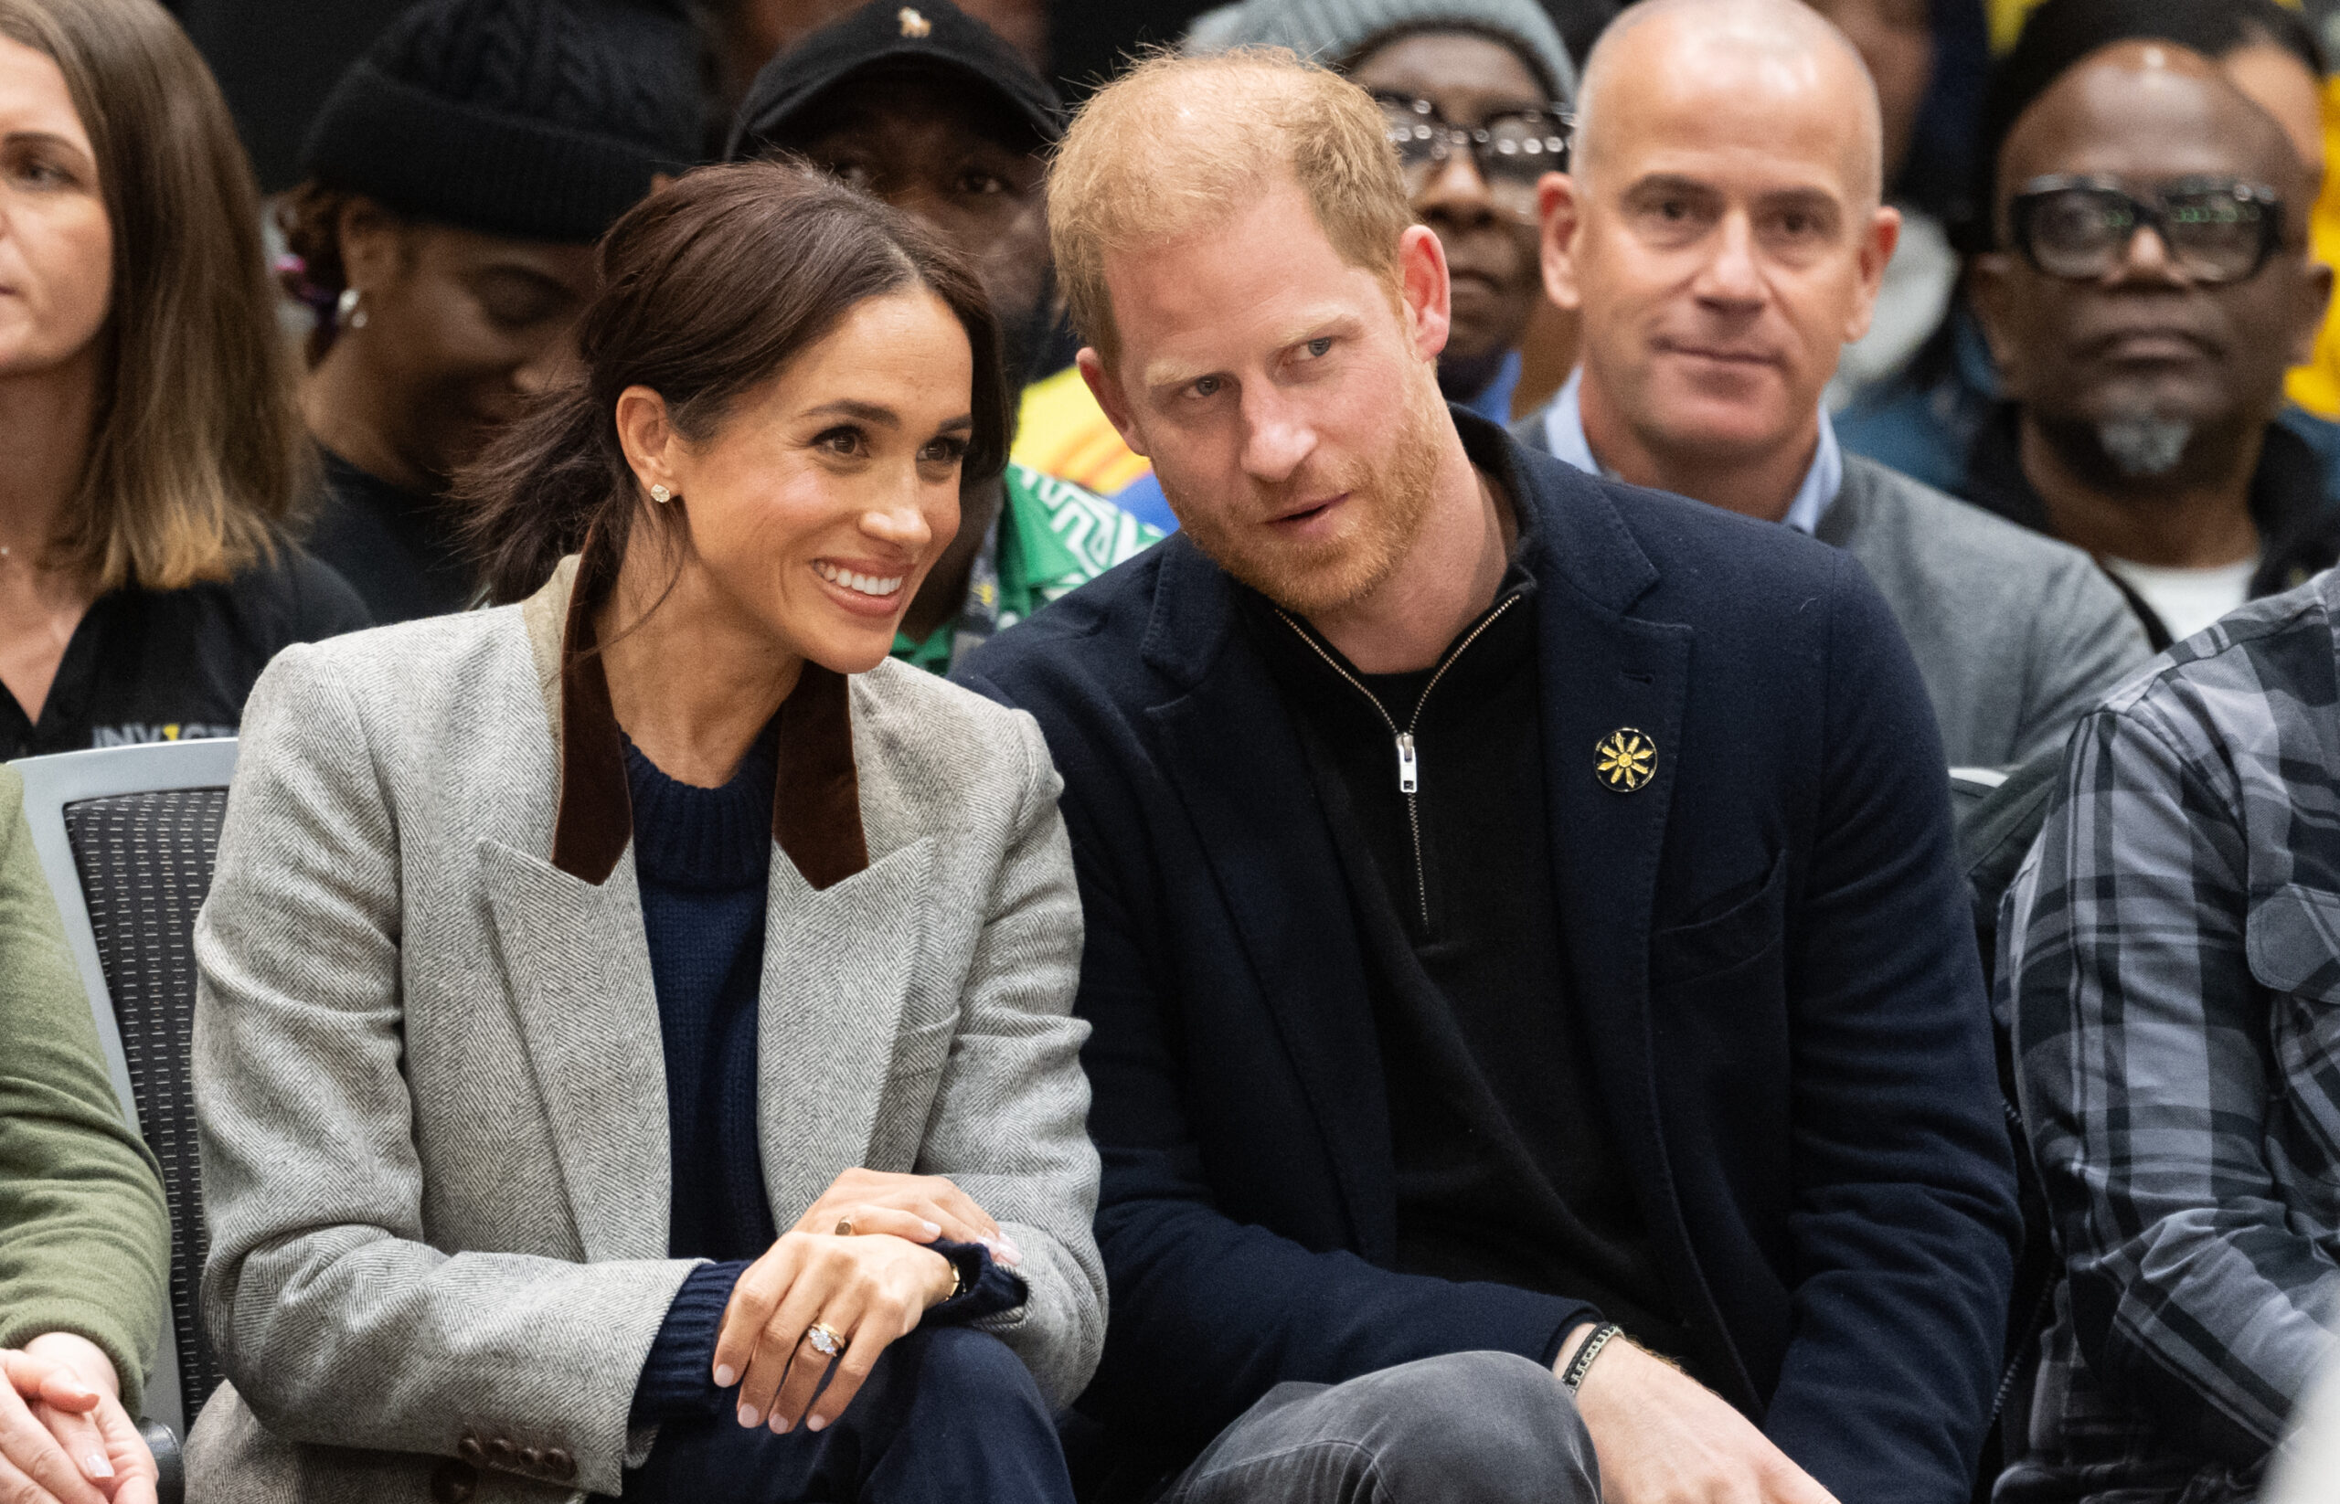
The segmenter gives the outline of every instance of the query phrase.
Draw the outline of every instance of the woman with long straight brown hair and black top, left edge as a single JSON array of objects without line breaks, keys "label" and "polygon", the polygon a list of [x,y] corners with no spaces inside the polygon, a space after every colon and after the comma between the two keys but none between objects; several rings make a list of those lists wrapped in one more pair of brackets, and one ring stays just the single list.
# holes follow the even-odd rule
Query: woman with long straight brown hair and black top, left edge
[{"label": "woman with long straight brown hair and black top, left edge", "polygon": [[232,737],[365,625],[307,489],[260,203],[152,0],[0,0],[0,758]]}]

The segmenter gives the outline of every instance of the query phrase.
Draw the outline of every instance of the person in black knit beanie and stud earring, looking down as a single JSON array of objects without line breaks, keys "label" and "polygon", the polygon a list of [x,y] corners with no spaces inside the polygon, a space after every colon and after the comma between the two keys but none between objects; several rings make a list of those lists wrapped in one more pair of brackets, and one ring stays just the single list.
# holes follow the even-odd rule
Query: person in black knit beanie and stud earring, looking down
[{"label": "person in black knit beanie and stud earring, looking down", "polygon": [[475,599],[447,487],[559,381],[592,243],[702,133],[679,0],[426,0],[342,75],[278,218],[316,311],[311,547],[377,620]]}]

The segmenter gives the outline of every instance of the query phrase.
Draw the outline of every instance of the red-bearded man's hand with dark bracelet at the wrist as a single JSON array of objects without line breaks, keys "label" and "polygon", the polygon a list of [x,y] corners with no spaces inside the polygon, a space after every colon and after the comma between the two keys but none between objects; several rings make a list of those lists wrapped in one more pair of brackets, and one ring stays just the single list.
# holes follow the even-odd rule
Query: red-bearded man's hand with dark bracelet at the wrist
[{"label": "red-bearded man's hand with dark bracelet at the wrist", "polygon": [[[1589,1333],[1570,1333],[1556,1373]],[[1605,1504],[1837,1504],[1720,1394],[1624,1338],[1610,1338],[1584,1373],[1577,1415]]]}]

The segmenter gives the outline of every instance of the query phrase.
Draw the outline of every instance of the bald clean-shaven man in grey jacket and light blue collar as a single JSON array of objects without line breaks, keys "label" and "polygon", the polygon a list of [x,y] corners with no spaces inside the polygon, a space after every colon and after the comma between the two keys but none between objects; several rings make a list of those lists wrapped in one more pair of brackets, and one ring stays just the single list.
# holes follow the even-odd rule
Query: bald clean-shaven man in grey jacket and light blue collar
[{"label": "bald clean-shaven man in grey jacket and light blue collar", "polygon": [[1626,12],[1589,61],[1575,171],[1542,185],[1582,365],[1519,437],[1851,552],[1947,763],[2008,767],[2062,748],[2146,636],[2083,552],[1837,447],[1823,393],[1900,222],[1881,150],[1860,56],[1797,0]]}]

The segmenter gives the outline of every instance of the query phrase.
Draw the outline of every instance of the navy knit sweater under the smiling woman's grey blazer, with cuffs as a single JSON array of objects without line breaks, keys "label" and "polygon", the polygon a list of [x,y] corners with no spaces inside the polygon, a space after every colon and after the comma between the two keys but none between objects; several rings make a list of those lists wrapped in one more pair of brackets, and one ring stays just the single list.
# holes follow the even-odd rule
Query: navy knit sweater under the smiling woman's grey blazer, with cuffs
[{"label": "navy knit sweater under the smiling woman's grey blazer, with cuffs", "polygon": [[[667,1254],[714,1261],[690,1272],[667,1310],[634,1389],[636,1420],[730,1410],[711,1375],[723,1308],[746,1265],[779,1237],[756,1130],[777,744],[775,718],[721,788],[679,784],[625,744],[634,882],[667,1060]],[[1023,1305],[1023,1282],[980,1247],[934,1247],[959,1265],[964,1289],[927,1312],[929,1322]]]}]

